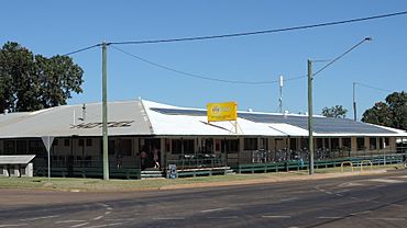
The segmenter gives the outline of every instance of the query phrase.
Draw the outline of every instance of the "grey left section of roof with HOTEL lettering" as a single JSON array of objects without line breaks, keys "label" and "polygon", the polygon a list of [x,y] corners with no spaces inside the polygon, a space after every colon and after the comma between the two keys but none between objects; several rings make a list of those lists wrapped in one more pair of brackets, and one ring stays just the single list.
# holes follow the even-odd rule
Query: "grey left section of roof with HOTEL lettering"
[{"label": "grey left section of roof with HOTEL lettering", "polygon": [[[14,114],[7,114],[14,115]],[[85,119],[84,119],[85,117]],[[151,135],[141,101],[109,102],[109,135]],[[1,138],[101,136],[101,103],[64,105],[0,119]]]}]

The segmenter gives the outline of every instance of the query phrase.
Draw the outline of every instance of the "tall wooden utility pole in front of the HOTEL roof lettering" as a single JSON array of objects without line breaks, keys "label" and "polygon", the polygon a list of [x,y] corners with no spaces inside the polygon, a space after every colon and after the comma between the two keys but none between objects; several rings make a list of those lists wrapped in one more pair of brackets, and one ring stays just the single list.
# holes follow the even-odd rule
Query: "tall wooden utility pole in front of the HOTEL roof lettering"
[{"label": "tall wooden utility pole in front of the HOTEL roof lettering", "polygon": [[109,141],[108,141],[108,79],[107,43],[102,43],[102,135],[103,135],[103,180],[109,180]]}]

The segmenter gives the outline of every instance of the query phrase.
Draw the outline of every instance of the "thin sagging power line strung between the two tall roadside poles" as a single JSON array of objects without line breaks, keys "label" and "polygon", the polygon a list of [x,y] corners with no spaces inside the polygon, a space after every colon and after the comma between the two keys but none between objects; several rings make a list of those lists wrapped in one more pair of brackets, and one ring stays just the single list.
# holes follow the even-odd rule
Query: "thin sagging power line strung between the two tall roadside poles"
[{"label": "thin sagging power line strung between the two tall roadside poles", "polygon": [[[190,72],[185,72],[185,71],[182,71],[182,70],[177,70],[177,69],[174,69],[174,68],[170,68],[170,67],[167,67],[167,66],[164,66],[164,65],[161,65],[161,64],[156,64],[156,62],[153,62],[151,60],[147,60],[145,58],[142,58],[140,56],[136,56],[132,53],[129,53],[127,50],[123,50],[119,47],[116,47],[114,45],[111,45],[111,47],[113,47],[114,49],[128,55],[128,56],[131,56],[133,58],[136,58],[143,62],[146,62],[148,65],[152,65],[154,67],[157,67],[157,68],[161,68],[161,69],[165,69],[165,70],[168,70],[168,71],[172,71],[172,72],[176,72],[178,75],[183,75],[183,76],[187,76],[187,77],[190,77],[190,78],[197,78],[197,79],[202,79],[202,80],[207,80],[207,81],[217,81],[217,82],[222,82],[222,83],[233,83],[233,84],[272,84],[272,83],[278,83],[279,80],[275,80],[275,81],[234,81],[234,80],[226,80],[226,79],[219,79],[219,78],[210,78],[210,77],[205,77],[205,76],[200,76],[200,75],[196,75],[196,73],[190,73]],[[301,77],[294,77],[294,78],[287,78],[285,79],[284,81],[293,81],[293,80],[297,80],[297,79],[301,79],[301,78],[307,78],[307,76],[301,76]]]}]

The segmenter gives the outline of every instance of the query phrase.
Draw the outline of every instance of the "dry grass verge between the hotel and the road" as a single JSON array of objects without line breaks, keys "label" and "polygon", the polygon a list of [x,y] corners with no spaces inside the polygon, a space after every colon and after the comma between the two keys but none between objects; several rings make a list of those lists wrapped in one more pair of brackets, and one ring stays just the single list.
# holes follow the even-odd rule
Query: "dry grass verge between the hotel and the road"
[{"label": "dry grass verge between the hotel and the road", "polygon": [[[364,167],[369,171],[370,167]],[[400,164],[392,166],[375,166],[373,170],[394,170],[403,169]],[[354,171],[360,171],[355,168]],[[351,172],[350,168],[345,168],[344,172]],[[316,169],[316,175],[327,173],[341,173],[341,168]],[[212,175],[199,178],[184,179],[154,179],[154,180],[109,180],[99,179],[74,179],[74,178],[52,178],[51,182],[46,178],[0,178],[0,187],[4,189],[37,189],[37,190],[54,190],[54,191],[80,191],[80,192],[123,192],[123,191],[143,191],[143,190],[161,190],[161,189],[177,189],[177,186],[202,186],[202,185],[228,185],[228,183],[253,183],[267,181],[286,181],[305,179],[308,175],[307,170],[292,172],[273,172],[273,173],[254,173],[254,174],[232,174],[232,175]]]}]

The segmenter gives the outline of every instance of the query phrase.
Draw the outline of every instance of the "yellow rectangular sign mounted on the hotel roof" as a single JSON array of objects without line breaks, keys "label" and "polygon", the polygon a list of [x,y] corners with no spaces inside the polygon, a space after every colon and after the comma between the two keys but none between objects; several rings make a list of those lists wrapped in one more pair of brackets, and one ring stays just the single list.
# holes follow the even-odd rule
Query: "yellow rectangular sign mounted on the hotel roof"
[{"label": "yellow rectangular sign mounted on the hotel roof", "polygon": [[238,103],[208,103],[207,104],[208,122],[237,121]]}]

